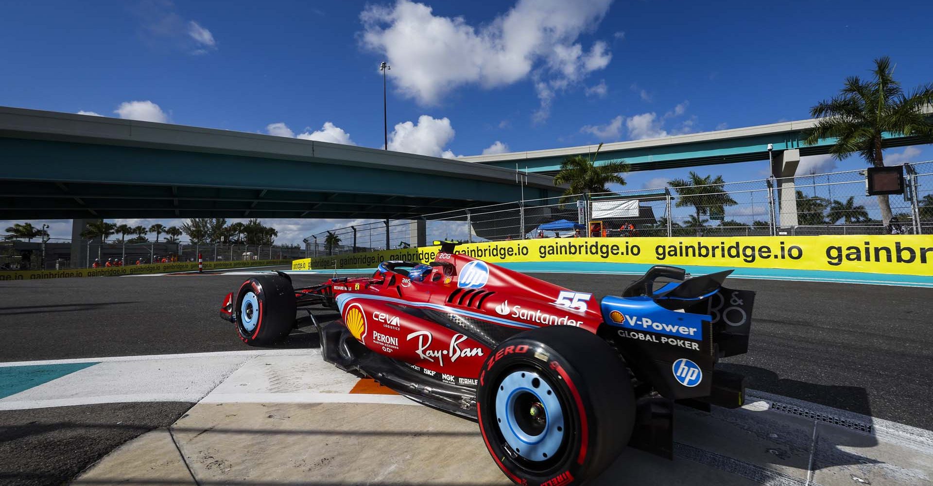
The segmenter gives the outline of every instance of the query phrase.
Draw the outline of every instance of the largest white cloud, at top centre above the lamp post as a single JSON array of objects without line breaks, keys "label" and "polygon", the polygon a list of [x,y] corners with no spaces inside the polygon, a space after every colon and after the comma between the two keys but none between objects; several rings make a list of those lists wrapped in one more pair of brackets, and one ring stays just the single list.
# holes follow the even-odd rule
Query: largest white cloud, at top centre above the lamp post
[{"label": "largest white cloud, at top centre above the lamp post", "polygon": [[435,16],[431,7],[397,0],[360,14],[364,47],[385,55],[392,79],[405,96],[438,104],[467,84],[484,89],[532,76],[540,100],[536,119],[547,118],[556,91],[578,83],[612,59],[606,43],[590,49],[577,42],[606,15],[611,0],[519,0],[479,27],[463,17]]}]

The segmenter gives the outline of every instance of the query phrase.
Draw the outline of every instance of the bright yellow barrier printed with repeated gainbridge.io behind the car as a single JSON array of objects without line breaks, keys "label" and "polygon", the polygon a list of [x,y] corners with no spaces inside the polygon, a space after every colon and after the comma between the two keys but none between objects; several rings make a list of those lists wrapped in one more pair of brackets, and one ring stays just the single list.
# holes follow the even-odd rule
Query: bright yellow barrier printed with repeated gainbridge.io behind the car
[{"label": "bright yellow barrier printed with repeated gainbridge.io behind the car", "polygon": [[[370,269],[429,262],[439,246],[294,260],[292,270]],[[455,253],[498,262],[606,262],[933,275],[931,235],[545,238],[464,243]]]}]

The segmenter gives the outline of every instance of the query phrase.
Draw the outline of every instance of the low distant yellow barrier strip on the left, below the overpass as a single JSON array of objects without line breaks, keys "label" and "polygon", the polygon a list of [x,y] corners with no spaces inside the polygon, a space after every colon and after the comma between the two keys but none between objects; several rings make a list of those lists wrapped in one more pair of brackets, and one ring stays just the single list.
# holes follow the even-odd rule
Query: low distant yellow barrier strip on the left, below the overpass
[{"label": "low distant yellow barrier strip on the left, below the overpass", "polygon": [[[288,265],[292,260],[246,260],[246,261],[205,261],[204,270],[235,269],[244,267],[265,267],[270,265]],[[100,269],[69,269],[47,271],[0,271],[0,281],[6,280],[44,280],[70,277],[111,277],[119,275],[141,275],[144,273],[166,273],[172,271],[198,270],[198,262],[153,263],[150,265],[128,265]]]}]

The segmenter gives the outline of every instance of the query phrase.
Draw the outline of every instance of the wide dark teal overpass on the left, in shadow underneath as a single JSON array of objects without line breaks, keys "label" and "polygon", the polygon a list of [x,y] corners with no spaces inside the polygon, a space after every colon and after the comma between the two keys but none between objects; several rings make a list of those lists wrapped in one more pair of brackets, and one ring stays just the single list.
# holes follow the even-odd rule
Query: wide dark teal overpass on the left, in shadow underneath
[{"label": "wide dark teal overpass on the left, in shadow underneath", "polygon": [[545,175],[366,148],[0,107],[0,219],[407,219],[563,193]]}]

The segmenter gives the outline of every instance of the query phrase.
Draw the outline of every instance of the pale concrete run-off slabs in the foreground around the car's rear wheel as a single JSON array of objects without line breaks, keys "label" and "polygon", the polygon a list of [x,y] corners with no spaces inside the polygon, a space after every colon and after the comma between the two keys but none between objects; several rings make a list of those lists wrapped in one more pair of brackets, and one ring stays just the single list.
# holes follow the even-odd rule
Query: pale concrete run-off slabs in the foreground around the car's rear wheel
[{"label": "pale concrete run-off slabs in the foreground around the car's rear wheel", "polygon": [[[93,371],[104,366],[111,370]],[[93,390],[111,393],[104,382],[121,366],[141,384],[152,377],[161,394],[194,395],[198,403],[106,455],[74,484],[508,484],[476,424],[326,365],[317,350],[110,358],[33,390],[57,383],[74,403],[94,403]],[[157,372],[181,368],[209,376],[173,389]],[[62,404],[50,390],[34,391],[30,406]],[[160,399],[145,386],[134,393]],[[25,406],[20,394],[0,405]],[[678,408],[674,461],[628,449],[594,484],[917,485],[931,478],[926,430],[750,391],[737,410]]]}]

